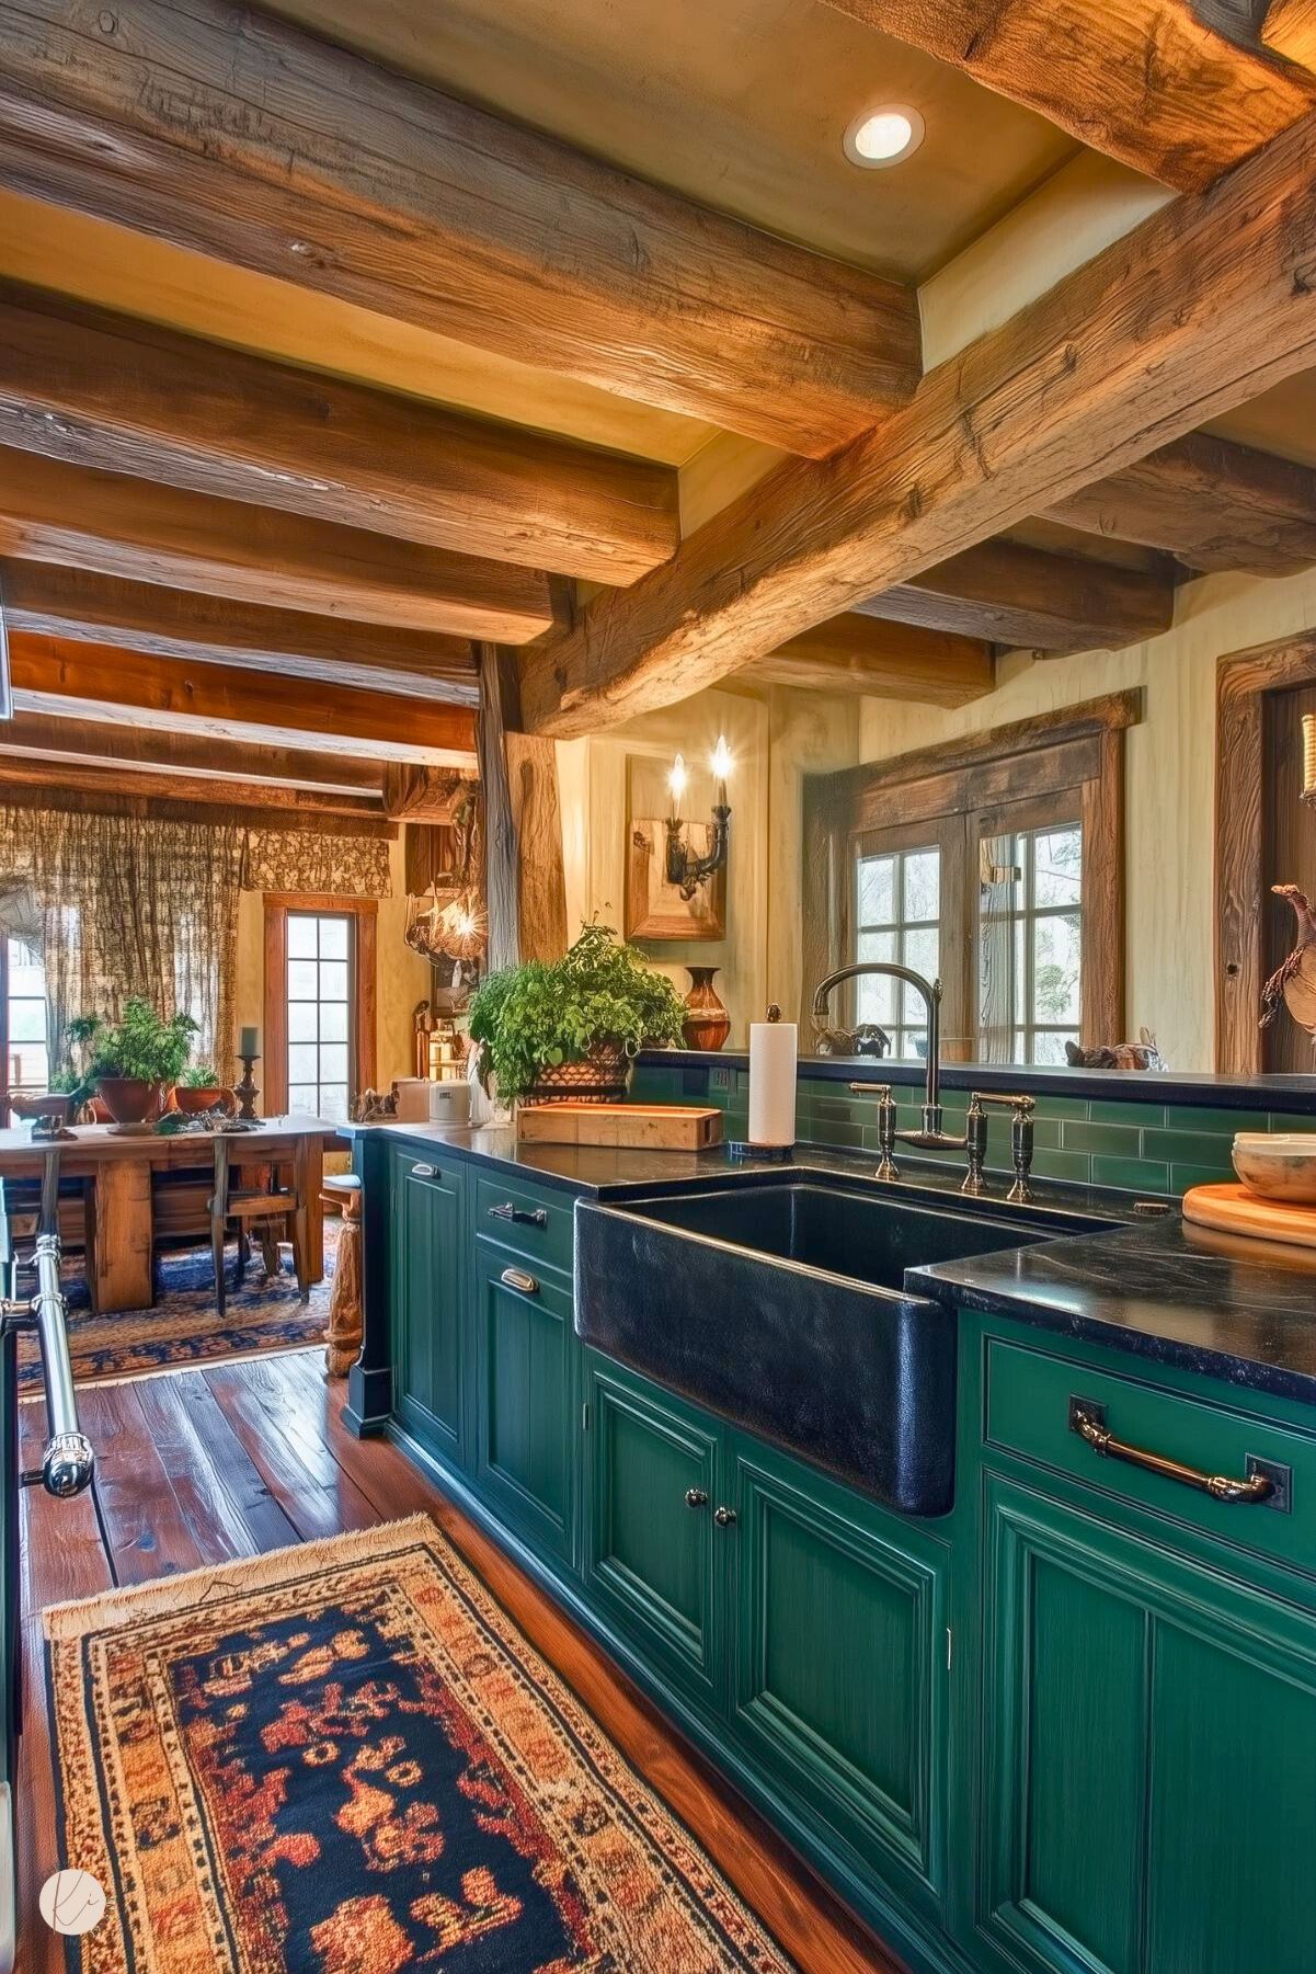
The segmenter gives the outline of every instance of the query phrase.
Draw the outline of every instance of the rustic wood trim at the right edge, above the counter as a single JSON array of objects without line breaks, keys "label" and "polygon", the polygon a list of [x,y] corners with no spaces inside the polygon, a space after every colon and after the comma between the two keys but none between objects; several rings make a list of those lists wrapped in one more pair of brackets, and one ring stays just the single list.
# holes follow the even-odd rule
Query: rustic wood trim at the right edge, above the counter
[{"label": "rustic wood trim at the right edge, above the counter", "polygon": [[1265,985],[1267,695],[1316,683],[1316,632],[1215,665],[1215,1068],[1259,1076]]}]

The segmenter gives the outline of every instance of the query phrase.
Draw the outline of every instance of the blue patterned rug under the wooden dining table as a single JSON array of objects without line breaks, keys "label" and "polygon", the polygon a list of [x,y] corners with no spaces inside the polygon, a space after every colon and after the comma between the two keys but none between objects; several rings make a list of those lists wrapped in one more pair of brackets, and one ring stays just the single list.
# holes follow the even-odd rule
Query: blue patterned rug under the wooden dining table
[{"label": "blue patterned rug under the wooden dining table", "polygon": [[[65,1263],[75,1382],[130,1378],[170,1364],[203,1364],[209,1358],[255,1356],[264,1350],[304,1350],[320,1342],[329,1323],[339,1228],[339,1220],[326,1220],[326,1275],[306,1303],[298,1293],[286,1248],[280,1250],[280,1273],[274,1279],[266,1277],[256,1250],[235,1289],[237,1248],[231,1246],[229,1307],[223,1323],[215,1309],[215,1265],[209,1248],[160,1253],[154,1307],[122,1309],[110,1317],[93,1315],[81,1265]],[[41,1360],[30,1336],[18,1340],[18,1388],[24,1396],[34,1396],[41,1388]]]}]

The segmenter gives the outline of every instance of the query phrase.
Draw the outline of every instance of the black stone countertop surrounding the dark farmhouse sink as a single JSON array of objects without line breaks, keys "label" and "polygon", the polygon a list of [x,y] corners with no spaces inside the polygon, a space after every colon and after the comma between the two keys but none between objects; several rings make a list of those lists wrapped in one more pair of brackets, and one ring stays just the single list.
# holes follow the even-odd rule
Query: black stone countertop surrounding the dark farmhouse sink
[{"label": "black stone countertop surrounding the dark farmhouse sink", "polygon": [[[872,1157],[799,1145],[789,1165],[730,1161],[724,1151],[608,1151],[584,1145],[519,1145],[511,1129],[442,1131],[434,1125],[349,1125],[345,1137],[387,1133],[446,1149],[537,1184],[598,1198],[625,1198],[693,1180],[736,1184],[829,1173],[876,1184]],[[961,1202],[959,1173],[904,1161],[892,1192],[939,1194]],[[884,1188],[886,1190],[886,1188]],[[912,1291],[988,1315],[1018,1317],[1065,1336],[1113,1344],[1154,1364],[1221,1378],[1316,1405],[1316,1250],[1269,1246],[1190,1226],[1178,1212],[1131,1216],[1131,1196],[1036,1180],[1030,1214],[1054,1218],[1058,1240],[1006,1248],[969,1261],[912,1269]],[[963,1204],[963,1202],[961,1202]],[[1016,1216],[996,1180],[996,1196],[973,1212]],[[1091,1224],[1085,1230],[1083,1222]]]}]

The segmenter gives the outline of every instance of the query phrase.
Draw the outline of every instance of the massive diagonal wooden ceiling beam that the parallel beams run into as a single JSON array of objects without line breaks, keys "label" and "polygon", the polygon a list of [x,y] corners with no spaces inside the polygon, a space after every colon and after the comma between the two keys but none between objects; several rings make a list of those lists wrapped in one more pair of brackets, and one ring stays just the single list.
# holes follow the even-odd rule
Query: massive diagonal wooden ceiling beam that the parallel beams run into
[{"label": "massive diagonal wooden ceiling beam that the parallel beams run into", "polygon": [[1316,363],[1316,124],[1176,199],[931,371],[825,464],[785,460],[671,563],[521,653],[531,730],[685,699]]}]

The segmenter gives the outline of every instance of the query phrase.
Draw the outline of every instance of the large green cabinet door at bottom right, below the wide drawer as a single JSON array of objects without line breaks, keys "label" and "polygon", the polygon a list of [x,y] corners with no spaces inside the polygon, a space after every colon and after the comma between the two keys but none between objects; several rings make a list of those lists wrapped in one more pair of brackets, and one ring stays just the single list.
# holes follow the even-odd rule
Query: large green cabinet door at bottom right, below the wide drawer
[{"label": "large green cabinet door at bottom right, below the wide drawer", "polygon": [[1316,1613],[985,1500],[987,1936],[1063,1974],[1316,1974]]}]

